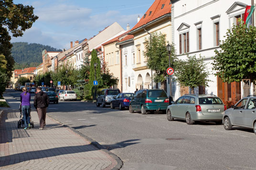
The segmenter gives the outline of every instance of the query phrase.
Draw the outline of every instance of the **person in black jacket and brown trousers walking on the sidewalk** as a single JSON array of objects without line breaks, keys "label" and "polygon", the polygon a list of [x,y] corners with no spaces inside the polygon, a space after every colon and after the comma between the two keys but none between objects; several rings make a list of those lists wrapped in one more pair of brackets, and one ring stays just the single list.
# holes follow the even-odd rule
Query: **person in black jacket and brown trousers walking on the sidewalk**
[{"label": "person in black jacket and brown trousers walking on the sidewalk", "polygon": [[36,88],[36,91],[37,93],[34,98],[34,107],[37,110],[40,122],[40,130],[43,130],[45,126],[46,110],[49,105],[49,97],[39,87]]}]

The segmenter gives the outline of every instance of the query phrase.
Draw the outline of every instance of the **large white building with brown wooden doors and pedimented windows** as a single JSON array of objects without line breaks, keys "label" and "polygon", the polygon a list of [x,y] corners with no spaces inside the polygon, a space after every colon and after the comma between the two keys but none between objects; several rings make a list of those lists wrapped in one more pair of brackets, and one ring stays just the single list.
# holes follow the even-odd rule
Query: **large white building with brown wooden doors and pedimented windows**
[{"label": "large white building with brown wooden doors and pedimented windows", "polygon": [[[220,50],[219,40],[224,40],[227,29],[243,18],[246,5],[251,0],[171,0],[172,42],[175,43],[178,58],[200,54],[205,57],[210,71],[209,87],[195,89],[195,93],[211,93],[228,101],[243,97],[243,83],[230,84],[214,75],[212,57],[214,50]],[[174,99],[188,92],[188,88],[177,87]],[[242,96],[241,96],[242,95]],[[245,94],[244,94],[245,95]]]}]

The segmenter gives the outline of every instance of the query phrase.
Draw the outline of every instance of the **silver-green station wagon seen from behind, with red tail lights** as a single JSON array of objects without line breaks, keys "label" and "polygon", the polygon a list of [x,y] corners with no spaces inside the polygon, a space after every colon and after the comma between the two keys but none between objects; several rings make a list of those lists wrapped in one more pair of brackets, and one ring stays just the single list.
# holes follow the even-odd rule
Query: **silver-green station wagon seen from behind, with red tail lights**
[{"label": "silver-green station wagon seen from behind, with red tail lights", "polygon": [[188,94],[181,96],[173,104],[169,105],[166,113],[167,120],[186,120],[191,125],[194,121],[215,121],[222,124],[226,106],[222,100],[211,94]]}]

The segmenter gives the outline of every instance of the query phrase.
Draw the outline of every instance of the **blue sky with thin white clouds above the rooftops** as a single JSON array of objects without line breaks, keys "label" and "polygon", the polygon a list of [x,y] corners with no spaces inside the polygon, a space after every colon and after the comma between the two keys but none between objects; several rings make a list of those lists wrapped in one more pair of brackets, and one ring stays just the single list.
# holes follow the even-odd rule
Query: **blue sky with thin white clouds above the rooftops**
[{"label": "blue sky with thin white clouds above the rooftops", "polygon": [[89,39],[114,22],[130,28],[155,0],[13,0],[32,5],[39,17],[22,37],[11,42],[28,42],[69,49],[70,41]]}]

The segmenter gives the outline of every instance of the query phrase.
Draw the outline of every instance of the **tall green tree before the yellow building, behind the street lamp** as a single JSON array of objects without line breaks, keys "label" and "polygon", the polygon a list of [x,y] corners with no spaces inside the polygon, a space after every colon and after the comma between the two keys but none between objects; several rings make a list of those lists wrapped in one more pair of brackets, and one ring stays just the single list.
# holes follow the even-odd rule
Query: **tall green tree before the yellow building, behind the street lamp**
[{"label": "tall green tree before the yellow building, behind the street lamp", "polygon": [[[169,68],[169,53],[166,44],[165,35],[154,32],[151,34],[151,40],[146,39],[146,51],[144,52],[148,59],[148,68],[154,71],[153,80],[161,82],[162,85],[168,76],[166,70]],[[172,48],[171,67],[173,67],[175,59],[175,49]]]}]

